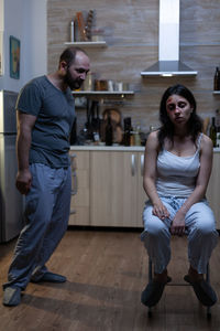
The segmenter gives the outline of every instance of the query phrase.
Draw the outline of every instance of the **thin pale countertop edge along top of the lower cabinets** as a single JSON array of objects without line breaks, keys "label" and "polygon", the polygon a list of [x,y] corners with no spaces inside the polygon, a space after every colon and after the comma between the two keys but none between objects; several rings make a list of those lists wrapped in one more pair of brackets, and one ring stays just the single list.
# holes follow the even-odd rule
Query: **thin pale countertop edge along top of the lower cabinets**
[{"label": "thin pale countertop edge along top of the lower cabinets", "polygon": [[[144,146],[94,146],[94,145],[84,145],[70,146],[70,150],[95,150],[95,151],[144,151]],[[213,152],[220,152],[220,148],[215,148]]]}]

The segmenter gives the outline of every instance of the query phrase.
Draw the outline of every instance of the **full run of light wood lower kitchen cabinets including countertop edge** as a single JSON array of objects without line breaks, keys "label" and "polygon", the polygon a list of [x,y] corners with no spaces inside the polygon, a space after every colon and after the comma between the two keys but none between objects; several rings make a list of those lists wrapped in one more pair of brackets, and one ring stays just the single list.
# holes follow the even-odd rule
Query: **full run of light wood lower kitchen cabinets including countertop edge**
[{"label": "full run of light wood lower kitchen cabinets including countertop edge", "polygon": [[[73,148],[76,153],[77,193],[72,199],[69,225],[142,227],[147,196],[143,190],[144,148]],[[79,149],[80,149],[79,148]],[[207,197],[220,229],[220,152],[213,168]]]}]

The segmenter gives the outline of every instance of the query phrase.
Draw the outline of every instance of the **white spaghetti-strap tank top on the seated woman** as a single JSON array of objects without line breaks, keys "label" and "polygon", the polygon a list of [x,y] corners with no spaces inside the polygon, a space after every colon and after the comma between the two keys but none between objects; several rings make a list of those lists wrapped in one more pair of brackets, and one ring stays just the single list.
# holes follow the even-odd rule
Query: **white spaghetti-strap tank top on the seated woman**
[{"label": "white spaghetti-strap tank top on the seated woman", "polygon": [[178,157],[163,149],[157,157],[156,190],[160,196],[187,197],[196,185],[200,168],[200,142],[198,137],[197,150],[191,157]]}]

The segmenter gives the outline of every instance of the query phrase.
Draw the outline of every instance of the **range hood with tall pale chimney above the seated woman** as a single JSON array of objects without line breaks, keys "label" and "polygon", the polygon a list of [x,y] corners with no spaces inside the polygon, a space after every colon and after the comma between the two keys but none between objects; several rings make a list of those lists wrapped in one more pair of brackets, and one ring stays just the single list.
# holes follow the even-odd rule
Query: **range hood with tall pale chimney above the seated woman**
[{"label": "range hood with tall pale chimney above the seated woman", "polygon": [[179,61],[179,0],[160,0],[158,62],[141,72],[141,75],[197,75]]}]

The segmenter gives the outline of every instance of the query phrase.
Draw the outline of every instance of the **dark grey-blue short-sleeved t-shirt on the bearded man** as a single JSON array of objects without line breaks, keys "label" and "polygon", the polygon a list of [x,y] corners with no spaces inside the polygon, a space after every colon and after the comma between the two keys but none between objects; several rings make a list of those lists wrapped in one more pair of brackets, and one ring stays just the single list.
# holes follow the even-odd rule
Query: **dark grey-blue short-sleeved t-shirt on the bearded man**
[{"label": "dark grey-blue short-sleeved t-shirt on the bearded man", "polygon": [[70,88],[62,92],[46,76],[34,78],[22,88],[16,109],[36,116],[30,163],[68,167],[69,135],[75,119]]}]

